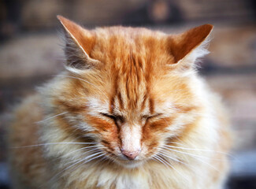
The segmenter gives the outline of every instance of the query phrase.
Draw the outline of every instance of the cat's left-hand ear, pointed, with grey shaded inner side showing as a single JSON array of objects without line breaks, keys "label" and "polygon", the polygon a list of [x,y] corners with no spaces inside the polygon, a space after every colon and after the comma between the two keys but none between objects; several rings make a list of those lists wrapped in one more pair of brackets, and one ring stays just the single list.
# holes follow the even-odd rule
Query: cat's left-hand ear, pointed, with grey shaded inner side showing
[{"label": "cat's left-hand ear, pointed, with grey shaded inner side showing", "polygon": [[90,57],[91,50],[95,44],[95,34],[82,28],[65,17],[57,16],[65,30],[65,56],[66,68],[89,69],[100,64],[99,61]]}]

